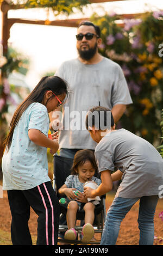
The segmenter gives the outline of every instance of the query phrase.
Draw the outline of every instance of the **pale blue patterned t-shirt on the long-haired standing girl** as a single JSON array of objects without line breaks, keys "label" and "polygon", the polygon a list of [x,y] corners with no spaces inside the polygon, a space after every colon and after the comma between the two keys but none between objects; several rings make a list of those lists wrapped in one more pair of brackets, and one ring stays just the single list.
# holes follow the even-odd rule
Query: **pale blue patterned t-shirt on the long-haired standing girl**
[{"label": "pale blue patterned t-shirt on the long-haired standing girl", "polygon": [[3,190],[28,190],[50,181],[47,148],[30,141],[30,129],[48,136],[48,112],[41,103],[30,104],[15,127],[9,151],[5,151],[2,159]]}]

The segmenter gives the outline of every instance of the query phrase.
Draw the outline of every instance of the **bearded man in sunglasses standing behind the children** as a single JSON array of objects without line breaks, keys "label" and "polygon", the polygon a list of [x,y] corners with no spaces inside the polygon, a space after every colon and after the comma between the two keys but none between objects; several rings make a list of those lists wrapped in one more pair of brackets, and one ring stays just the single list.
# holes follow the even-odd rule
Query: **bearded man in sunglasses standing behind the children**
[{"label": "bearded man in sunglasses standing behind the children", "polygon": [[[62,129],[55,113],[50,115],[50,128],[57,130],[57,124],[60,130],[59,156],[72,160],[78,150],[95,150],[97,143],[83,124],[90,108],[99,105],[109,108],[117,123],[126,111],[126,105],[133,103],[120,65],[98,52],[102,44],[99,27],[89,21],[81,22],[76,39],[78,58],[62,63],[55,73],[70,86],[70,96],[62,106]],[[57,190],[63,185],[58,182]]]}]

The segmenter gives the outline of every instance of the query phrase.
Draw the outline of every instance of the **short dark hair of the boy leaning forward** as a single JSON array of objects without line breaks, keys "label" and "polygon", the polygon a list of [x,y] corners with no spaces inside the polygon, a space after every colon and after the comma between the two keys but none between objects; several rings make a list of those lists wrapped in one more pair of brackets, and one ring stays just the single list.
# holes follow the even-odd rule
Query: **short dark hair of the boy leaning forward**
[{"label": "short dark hair of the boy leaning forward", "polygon": [[95,126],[97,130],[110,129],[114,126],[114,118],[109,108],[97,106],[87,112],[85,125],[87,130],[89,130],[89,126],[91,128]]}]

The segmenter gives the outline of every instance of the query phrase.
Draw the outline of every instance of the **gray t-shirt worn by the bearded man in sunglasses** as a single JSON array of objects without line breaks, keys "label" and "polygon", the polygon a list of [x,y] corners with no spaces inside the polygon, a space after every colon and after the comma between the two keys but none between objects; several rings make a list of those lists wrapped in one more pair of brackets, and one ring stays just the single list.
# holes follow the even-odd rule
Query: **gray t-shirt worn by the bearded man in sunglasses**
[{"label": "gray t-shirt worn by the bearded man in sunglasses", "polygon": [[133,103],[121,67],[108,58],[93,65],[77,58],[64,62],[55,75],[67,81],[71,90],[63,109],[64,130],[59,132],[59,148],[95,149],[97,143],[85,127],[86,112],[99,106],[99,102],[109,109]]}]

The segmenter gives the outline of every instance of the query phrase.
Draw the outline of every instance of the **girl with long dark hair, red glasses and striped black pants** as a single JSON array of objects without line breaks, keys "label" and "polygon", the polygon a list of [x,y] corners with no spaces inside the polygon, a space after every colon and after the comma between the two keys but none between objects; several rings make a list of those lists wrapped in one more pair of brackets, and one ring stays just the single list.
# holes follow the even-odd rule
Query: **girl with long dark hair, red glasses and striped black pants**
[{"label": "girl with long dark hair, red glasses and striped black pants", "polygon": [[59,203],[48,176],[47,148],[59,148],[57,133],[48,138],[48,113],[64,103],[67,84],[57,76],[41,79],[17,107],[4,141],[3,190],[8,192],[13,245],[32,245],[30,206],[39,216],[37,245],[57,245]]}]

